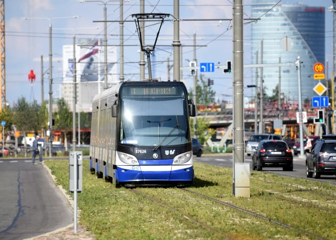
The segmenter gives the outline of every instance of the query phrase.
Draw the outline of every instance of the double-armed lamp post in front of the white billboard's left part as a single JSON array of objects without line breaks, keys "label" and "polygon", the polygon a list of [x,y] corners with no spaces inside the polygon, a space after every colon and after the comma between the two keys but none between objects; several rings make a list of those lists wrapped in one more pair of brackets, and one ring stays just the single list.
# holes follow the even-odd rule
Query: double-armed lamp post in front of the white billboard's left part
[{"label": "double-armed lamp post in front of the white billboard's left part", "polygon": [[[76,87],[76,30],[99,29],[97,28],[76,28],[76,29],[54,29],[54,30],[71,30],[73,32],[73,102],[72,102],[72,151],[76,151],[76,102],[77,102],[77,87]],[[79,118],[78,111],[78,118]]]}]

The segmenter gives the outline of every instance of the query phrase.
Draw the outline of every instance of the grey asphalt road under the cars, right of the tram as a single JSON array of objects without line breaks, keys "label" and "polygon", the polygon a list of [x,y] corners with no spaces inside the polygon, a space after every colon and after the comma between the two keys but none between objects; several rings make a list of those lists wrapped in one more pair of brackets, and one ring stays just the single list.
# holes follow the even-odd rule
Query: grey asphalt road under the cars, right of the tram
[{"label": "grey asphalt road under the cars, right of the tram", "polygon": [[[232,168],[232,156],[202,156],[202,157],[196,157],[194,156],[195,162],[205,163],[205,164],[211,164],[219,167],[228,167]],[[252,156],[245,156],[245,162],[250,163],[250,171],[252,170]],[[305,159],[294,157],[294,163],[293,163],[294,169],[293,172],[289,171],[283,171],[282,168],[263,168],[263,172],[269,172],[269,173],[276,173],[283,176],[289,176],[289,177],[297,177],[297,178],[304,178],[304,179],[310,179],[313,181],[323,181],[323,182],[331,182],[333,184],[336,184],[335,181],[335,175],[333,176],[327,176],[327,175],[321,175],[320,179],[314,179],[314,178],[307,178],[305,174]]]}]

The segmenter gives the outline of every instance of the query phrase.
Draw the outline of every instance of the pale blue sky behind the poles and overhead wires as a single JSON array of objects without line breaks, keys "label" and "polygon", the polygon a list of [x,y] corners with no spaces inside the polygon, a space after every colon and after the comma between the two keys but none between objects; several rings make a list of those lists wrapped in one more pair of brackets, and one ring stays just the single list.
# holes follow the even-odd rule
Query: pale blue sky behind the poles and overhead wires
[{"label": "pale blue sky behind the poles and overhead wires", "polygon": [[[158,0],[145,0],[145,12],[152,12],[153,6]],[[270,1],[271,2],[271,1]],[[277,2],[277,1],[276,1]],[[294,4],[298,1],[282,1],[283,4]],[[301,0],[303,4],[313,7],[328,8],[332,5],[331,0],[317,1]],[[120,17],[119,1],[110,2],[107,5],[108,20],[116,20]],[[171,13],[173,14],[173,1],[160,0],[154,12]],[[250,1],[245,0],[244,12],[250,15]],[[180,18],[231,18],[232,7],[228,0],[180,0]],[[200,6],[211,5],[211,6]],[[63,19],[54,20],[52,22],[53,28],[90,28],[102,26],[103,23],[94,23],[93,20],[101,20],[103,18],[103,6],[99,3],[79,3],[75,0],[11,0],[7,1],[5,5],[6,11],[6,97],[7,101],[12,105],[13,101],[17,101],[20,96],[26,97],[27,100],[37,99],[41,100],[41,65],[40,62],[34,62],[34,58],[40,58],[41,55],[48,57],[49,41],[48,41],[48,25],[47,20],[23,20],[22,17],[69,17],[80,16],[77,19]],[[124,17],[132,13],[139,12],[139,1],[130,0],[125,3]],[[332,31],[332,15],[326,12],[325,31]],[[131,19],[131,18],[129,18]],[[203,21],[191,22],[184,21],[180,23],[180,39],[184,45],[192,44],[192,34],[196,30],[197,44],[207,45],[197,49],[197,59],[200,62],[214,62],[225,64],[227,60],[232,59],[232,31],[226,32],[229,22],[222,22],[221,25],[216,26],[218,21]],[[251,23],[258,24],[258,23]],[[203,25],[203,26],[202,26]],[[99,30],[81,30],[77,31],[79,35],[77,38],[91,39],[102,38],[103,29]],[[218,35],[223,34],[220,38],[212,41]],[[119,44],[119,23],[108,23],[107,28],[108,44]],[[137,34],[135,33],[135,24],[133,22],[125,23],[124,39],[130,37],[125,44],[138,44]],[[134,34],[134,35],[133,35]],[[154,32],[147,31],[145,38],[147,44],[152,44]],[[98,36],[97,36],[98,35]],[[131,37],[131,35],[133,35]],[[250,63],[250,46],[248,45],[250,39],[250,24],[244,27],[244,35],[246,41],[244,46],[244,63]],[[331,72],[332,62],[332,33],[326,33],[326,58],[329,60],[329,70]],[[157,44],[165,45],[171,44],[173,40],[173,24],[165,22],[162,26],[160,37]],[[212,41],[211,43],[209,43]],[[209,44],[208,44],[209,43]],[[62,46],[64,44],[72,44],[72,32],[70,31],[53,31],[52,51],[53,57],[62,57]],[[86,49],[82,49],[84,52]],[[139,61],[138,47],[124,47],[125,62]],[[166,48],[165,51],[156,49],[156,61],[165,61],[168,57],[173,60],[172,48]],[[192,60],[192,47],[183,48],[183,65],[187,66],[188,60]],[[119,57],[118,57],[119,58]],[[44,71],[47,70],[48,63],[44,63]],[[36,82],[31,87],[27,75],[33,69],[36,74]],[[119,69],[119,66],[118,66]],[[167,64],[162,62],[155,66],[154,77],[162,77],[166,79]],[[138,64],[125,64],[125,73],[138,73]],[[147,73],[147,69],[146,69]],[[244,84],[251,83],[250,70],[244,70]],[[138,75],[135,75],[132,80],[136,80]],[[171,70],[171,79],[173,76],[173,69]],[[329,73],[330,76],[330,73]],[[217,93],[217,97],[221,99],[219,94],[231,94],[232,89],[232,75],[223,75],[218,69],[214,73],[207,73],[206,78],[214,79],[213,89]],[[44,99],[48,99],[48,75],[44,76]],[[62,82],[62,62],[53,63],[53,79],[54,83]],[[189,71],[183,72],[183,79],[187,83],[187,88],[192,86],[192,76]],[[59,86],[53,86],[55,96],[59,96]],[[251,95],[249,90],[245,91],[245,95]],[[226,98],[230,100],[230,98]]]}]

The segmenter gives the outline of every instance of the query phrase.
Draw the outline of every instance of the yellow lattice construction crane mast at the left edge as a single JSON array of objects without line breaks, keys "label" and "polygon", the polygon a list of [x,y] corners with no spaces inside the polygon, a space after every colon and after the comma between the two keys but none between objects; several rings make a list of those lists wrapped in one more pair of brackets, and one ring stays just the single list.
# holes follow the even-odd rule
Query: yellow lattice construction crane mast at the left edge
[{"label": "yellow lattice construction crane mast at the left edge", "polygon": [[1,99],[0,99],[0,111],[3,109],[3,103],[6,102],[6,65],[5,65],[5,0],[0,0],[0,45],[1,45]]}]

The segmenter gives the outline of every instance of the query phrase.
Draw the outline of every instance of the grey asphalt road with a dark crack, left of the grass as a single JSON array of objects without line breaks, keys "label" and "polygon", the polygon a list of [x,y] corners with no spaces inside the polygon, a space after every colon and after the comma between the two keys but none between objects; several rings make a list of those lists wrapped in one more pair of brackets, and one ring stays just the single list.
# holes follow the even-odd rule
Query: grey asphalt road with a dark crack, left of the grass
[{"label": "grey asphalt road with a dark crack, left of the grass", "polygon": [[38,236],[72,223],[72,210],[41,164],[0,159],[0,239]]}]

